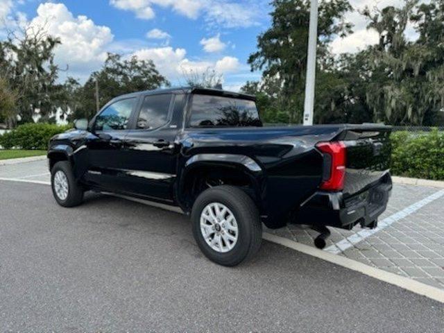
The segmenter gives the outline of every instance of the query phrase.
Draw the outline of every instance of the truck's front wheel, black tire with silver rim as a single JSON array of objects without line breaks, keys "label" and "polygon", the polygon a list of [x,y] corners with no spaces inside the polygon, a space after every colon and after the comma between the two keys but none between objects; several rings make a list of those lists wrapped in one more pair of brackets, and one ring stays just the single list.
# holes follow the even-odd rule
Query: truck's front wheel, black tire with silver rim
[{"label": "truck's front wheel, black tire with silver rim", "polygon": [[51,187],[57,203],[63,207],[80,205],[83,189],[78,185],[71,169],[71,164],[61,161],[51,169]]}]

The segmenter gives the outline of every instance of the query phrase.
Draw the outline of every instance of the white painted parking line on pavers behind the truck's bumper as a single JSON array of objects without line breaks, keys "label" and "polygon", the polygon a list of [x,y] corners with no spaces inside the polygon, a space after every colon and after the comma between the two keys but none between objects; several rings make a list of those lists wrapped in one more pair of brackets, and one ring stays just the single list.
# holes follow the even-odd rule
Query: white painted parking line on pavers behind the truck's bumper
[{"label": "white painted parking line on pavers behind the truck's bumper", "polygon": [[441,191],[437,191],[434,194],[427,196],[426,198],[423,198],[422,200],[419,200],[416,203],[413,203],[413,205],[409,205],[408,207],[405,207],[403,210],[400,210],[399,212],[396,212],[395,214],[386,217],[384,220],[377,223],[377,228],[364,229],[359,232],[356,232],[355,234],[352,234],[351,236],[341,241],[338,241],[337,243],[325,248],[324,250],[333,253],[334,255],[337,255],[347,250],[348,248],[352,248],[360,241],[363,241],[364,239],[375,234],[376,232],[379,232],[382,229],[387,228],[389,225],[395,223],[396,221],[400,221],[401,219],[404,219],[404,217],[413,214],[414,212],[418,211],[420,208],[424,207],[428,203],[432,203],[432,201],[441,198],[441,196],[444,196],[444,189],[441,189]]}]

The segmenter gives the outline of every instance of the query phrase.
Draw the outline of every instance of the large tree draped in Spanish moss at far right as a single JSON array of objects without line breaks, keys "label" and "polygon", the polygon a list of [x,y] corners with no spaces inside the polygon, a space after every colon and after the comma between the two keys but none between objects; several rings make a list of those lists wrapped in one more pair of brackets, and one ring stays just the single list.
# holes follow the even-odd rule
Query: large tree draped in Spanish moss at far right
[{"label": "large tree draped in Spanish moss at far right", "polygon": [[[350,58],[365,85],[374,121],[395,125],[433,125],[444,105],[444,1],[401,8],[366,8],[362,13],[377,31],[379,42]],[[409,41],[407,25],[415,24],[418,40]],[[359,65],[358,65],[359,64]]]}]

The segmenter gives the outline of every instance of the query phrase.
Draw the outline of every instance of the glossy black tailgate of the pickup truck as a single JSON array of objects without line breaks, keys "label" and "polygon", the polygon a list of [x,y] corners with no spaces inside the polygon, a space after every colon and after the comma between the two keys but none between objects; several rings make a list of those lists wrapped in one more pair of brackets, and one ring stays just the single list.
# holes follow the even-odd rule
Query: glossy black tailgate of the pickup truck
[{"label": "glossy black tailgate of the pickup truck", "polygon": [[337,139],[347,148],[345,183],[346,197],[357,194],[378,182],[390,168],[391,127],[355,126],[347,127]]}]

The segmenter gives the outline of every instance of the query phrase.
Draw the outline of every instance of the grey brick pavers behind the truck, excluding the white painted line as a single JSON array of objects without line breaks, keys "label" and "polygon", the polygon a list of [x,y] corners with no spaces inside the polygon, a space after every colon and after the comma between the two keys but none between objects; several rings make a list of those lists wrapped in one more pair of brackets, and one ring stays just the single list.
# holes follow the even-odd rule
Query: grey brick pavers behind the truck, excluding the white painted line
[{"label": "grey brick pavers behind the truck, excluding the white painted line", "polygon": [[[395,184],[388,208],[379,221],[439,191],[442,189]],[[332,236],[326,248],[334,248],[334,244],[362,229],[330,230]],[[313,240],[318,235],[301,225],[267,231],[310,246],[314,246]],[[352,244],[339,255],[444,289],[444,195]]]}]

